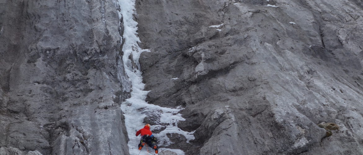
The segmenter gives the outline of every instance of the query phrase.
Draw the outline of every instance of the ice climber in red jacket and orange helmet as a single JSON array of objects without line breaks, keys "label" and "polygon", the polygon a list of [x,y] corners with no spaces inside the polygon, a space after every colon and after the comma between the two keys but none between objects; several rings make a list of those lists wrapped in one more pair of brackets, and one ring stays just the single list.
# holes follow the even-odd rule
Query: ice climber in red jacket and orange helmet
[{"label": "ice climber in red jacket and orange helmet", "polygon": [[150,125],[146,124],[143,129],[140,129],[136,132],[136,136],[141,134],[139,150],[146,144],[147,146],[154,148],[155,153],[158,154],[158,146],[156,145],[157,139],[154,135],[152,135],[150,131]]}]

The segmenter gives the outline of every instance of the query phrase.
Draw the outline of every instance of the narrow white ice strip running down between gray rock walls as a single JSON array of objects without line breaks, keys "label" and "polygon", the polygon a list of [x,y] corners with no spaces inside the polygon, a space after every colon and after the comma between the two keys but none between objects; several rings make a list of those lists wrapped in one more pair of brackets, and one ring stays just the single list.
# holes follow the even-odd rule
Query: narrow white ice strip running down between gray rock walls
[{"label": "narrow white ice strip running down between gray rock walls", "polygon": [[[145,114],[150,112],[160,115],[160,120],[158,121],[160,125],[152,125],[151,131],[166,127],[166,129],[158,134],[154,134],[154,136],[158,138],[159,152],[163,150],[171,150],[176,152],[178,155],[183,155],[184,152],[182,150],[165,148],[172,143],[166,134],[178,133],[184,135],[189,141],[194,139],[193,132],[186,132],[178,128],[178,122],[185,120],[181,117],[181,114],[178,113],[178,111],[181,110],[180,107],[176,107],[175,109],[160,107],[145,101],[148,91],[143,90],[145,84],[142,83],[142,73],[139,70],[139,57],[142,52],[146,52],[148,50],[141,49],[137,43],[140,42],[140,40],[138,36],[136,36],[138,23],[133,20],[133,14],[135,13],[135,0],[117,1],[121,8],[119,17],[123,17],[123,26],[125,27],[123,33],[125,42],[122,48],[124,55],[122,59],[125,66],[125,72],[132,83],[131,97],[126,99],[126,101],[121,105],[121,109],[125,115],[127,133],[130,139],[128,143],[130,155],[138,155],[140,153],[137,148],[140,137],[135,136],[135,130],[139,130],[144,127],[143,119],[146,117]],[[136,66],[132,66],[132,61],[129,59],[130,54],[132,54],[134,59],[132,61],[135,62]],[[175,126],[172,125],[173,123]],[[166,126],[163,126],[165,124]],[[145,154],[145,149],[143,149],[142,152],[143,151],[144,153],[141,154]]]}]

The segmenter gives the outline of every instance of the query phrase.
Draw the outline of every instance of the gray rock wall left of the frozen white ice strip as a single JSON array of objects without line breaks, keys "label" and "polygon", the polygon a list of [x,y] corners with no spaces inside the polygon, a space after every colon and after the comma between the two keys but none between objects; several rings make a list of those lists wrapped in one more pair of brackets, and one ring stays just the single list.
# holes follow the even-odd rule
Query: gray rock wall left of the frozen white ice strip
[{"label": "gray rock wall left of the frozen white ice strip", "polygon": [[0,0],[1,155],[129,154],[118,11],[114,1]]}]

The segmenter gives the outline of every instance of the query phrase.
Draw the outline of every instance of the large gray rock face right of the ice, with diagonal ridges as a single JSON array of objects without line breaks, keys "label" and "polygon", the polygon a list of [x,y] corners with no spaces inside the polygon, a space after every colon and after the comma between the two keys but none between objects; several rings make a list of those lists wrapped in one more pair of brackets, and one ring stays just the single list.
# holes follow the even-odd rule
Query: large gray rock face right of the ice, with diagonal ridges
[{"label": "large gray rock face right of the ice, with diagonal ridges", "polygon": [[[136,10],[151,49],[140,58],[147,101],[185,106],[187,154],[363,154],[361,0],[137,0]],[[321,122],[339,130],[327,136]]]}]

